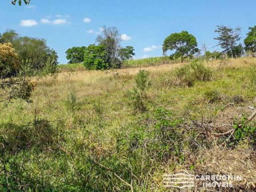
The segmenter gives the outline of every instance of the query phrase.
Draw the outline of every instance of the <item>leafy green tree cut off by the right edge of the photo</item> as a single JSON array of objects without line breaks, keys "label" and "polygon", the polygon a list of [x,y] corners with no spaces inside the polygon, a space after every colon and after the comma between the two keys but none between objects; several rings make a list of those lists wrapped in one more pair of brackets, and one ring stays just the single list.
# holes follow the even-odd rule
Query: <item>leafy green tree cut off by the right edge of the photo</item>
[{"label": "leafy green tree cut off by the right edge of the photo", "polygon": [[256,57],[256,26],[249,27],[249,30],[244,39],[245,50],[254,52]]}]

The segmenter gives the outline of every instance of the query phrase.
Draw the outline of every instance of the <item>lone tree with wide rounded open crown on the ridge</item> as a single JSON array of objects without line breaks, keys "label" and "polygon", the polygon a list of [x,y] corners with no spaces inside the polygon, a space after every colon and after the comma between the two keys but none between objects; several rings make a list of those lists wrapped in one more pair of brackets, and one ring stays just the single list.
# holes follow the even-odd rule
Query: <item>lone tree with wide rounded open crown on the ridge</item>
[{"label": "lone tree with wide rounded open crown on the ridge", "polygon": [[196,38],[187,31],[173,33],[168,36],[163,43],[163,52],[166,54],[168,50],[176,50],[170,58],[181,58],[181,62],[187,57],[192,57],[199,51]]}]

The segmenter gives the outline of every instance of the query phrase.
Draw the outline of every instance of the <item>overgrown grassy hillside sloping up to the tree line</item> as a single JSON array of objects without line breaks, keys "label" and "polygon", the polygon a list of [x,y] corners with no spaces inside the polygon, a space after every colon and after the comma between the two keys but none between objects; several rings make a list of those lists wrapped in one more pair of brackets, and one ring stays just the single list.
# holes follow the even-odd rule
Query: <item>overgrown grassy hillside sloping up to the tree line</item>
[{"label": "overgrown grassy hillside sloping up to the tree line", "polygon": [[[187,63],[149,60],[136,64],[150,73],[141,100],[141,68],[35,78],[33,103],[0,114],[0,191],[161,192],[162,174],[178,172],[241,175],[233,188],[212,190],[254,191],[255,132],[226,146],[229,134],[214,133],[256,107],[255,58],[200,62],[206,68],[194,74],[179,70]],[[254,121],[243,126],[255,128]]]}]

